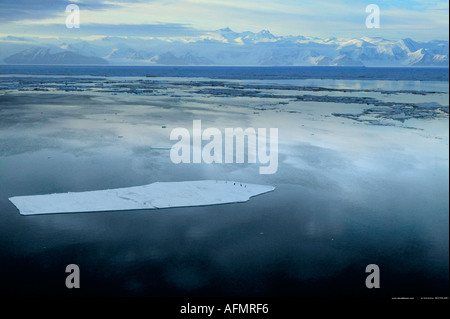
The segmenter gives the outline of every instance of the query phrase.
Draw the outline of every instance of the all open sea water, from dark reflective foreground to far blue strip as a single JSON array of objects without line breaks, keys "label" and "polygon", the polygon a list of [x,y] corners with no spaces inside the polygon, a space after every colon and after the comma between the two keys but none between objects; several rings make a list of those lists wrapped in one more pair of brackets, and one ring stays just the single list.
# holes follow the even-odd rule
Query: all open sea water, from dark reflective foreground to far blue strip
[{"label": "all open sea water, from dark reflective foreground to far blue strip", "polygon": [[[328,78],[358,87],[371,79],[427,79],[440,81],[424,84],[438,91],[448,80],[448,69],[425,68],[0,66],[0,74]],[[278,101],[211,98],[195,90],[187,86],[178,97],[0,95],[0,295],[448,296],[448,118],[413,120],[414,130],[370,126],[330,115],[353,105],[290,102],[291,113],[264,113],[251,107]],[[426,97],[385,98],[442,102],[445,94],[448,86]],[[167,135],[162,125],[199,117],[278,125],[286,137],[278,174],[172,164],[156,149],[167,146],[160,143]],[[199,179],[277,189],[243,204],[29,217],[8,200]],[[65,267],[72,263],[81,269],[76,291],[65,287]],[[369,264],[381,268],[379,290],[365,286]]]}]

